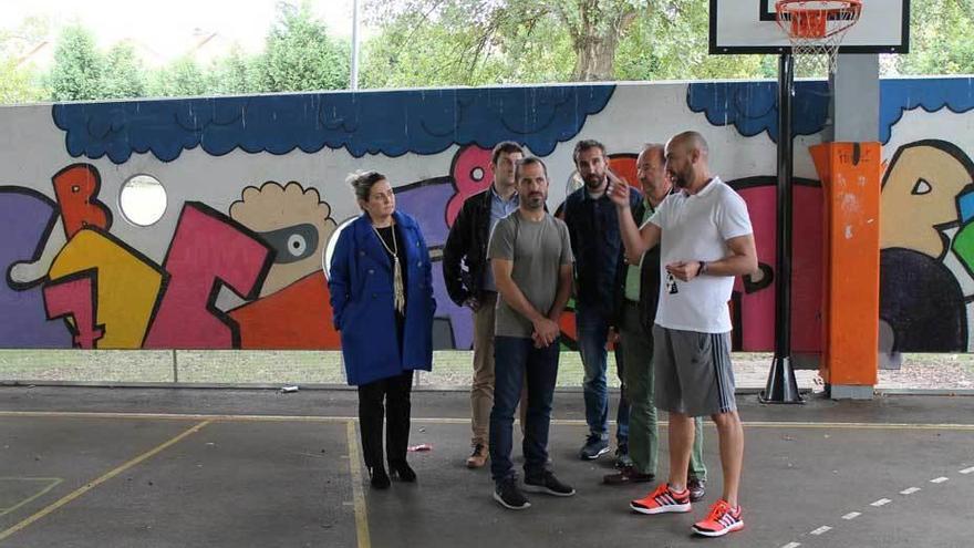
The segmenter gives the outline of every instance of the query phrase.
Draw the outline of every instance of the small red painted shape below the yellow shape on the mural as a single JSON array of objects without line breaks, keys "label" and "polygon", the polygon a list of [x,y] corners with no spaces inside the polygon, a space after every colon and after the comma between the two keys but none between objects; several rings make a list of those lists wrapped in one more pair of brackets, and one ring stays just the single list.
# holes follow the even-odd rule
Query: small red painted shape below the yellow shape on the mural
[{"label": "small red painted shape below the yellow shape on the mural", "polygon": [[[74,278],[44,286],[44,308],[48,319],[64,318],[64,323],[74,335],[74,348],[91,350],[105,335],[104,325],[95,325],[94,272],[83,278]],[[68,321],[71,317],[72,321]]]}]

